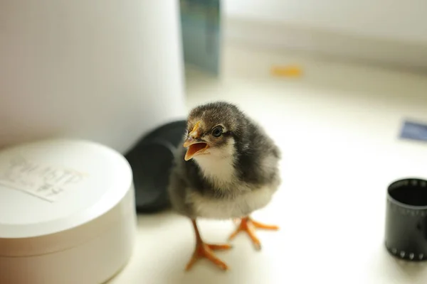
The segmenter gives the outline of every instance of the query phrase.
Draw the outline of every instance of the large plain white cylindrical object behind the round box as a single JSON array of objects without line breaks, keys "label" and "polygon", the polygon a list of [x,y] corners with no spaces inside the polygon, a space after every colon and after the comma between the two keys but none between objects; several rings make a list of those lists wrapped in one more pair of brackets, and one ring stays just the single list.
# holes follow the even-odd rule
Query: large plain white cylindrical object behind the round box
[{"label": "large plain white cylindrical object behind the round box", "polygon": [[184,117],[177,0],[3,0],[0,26],[0,147],[72,137],[125,153]]}]

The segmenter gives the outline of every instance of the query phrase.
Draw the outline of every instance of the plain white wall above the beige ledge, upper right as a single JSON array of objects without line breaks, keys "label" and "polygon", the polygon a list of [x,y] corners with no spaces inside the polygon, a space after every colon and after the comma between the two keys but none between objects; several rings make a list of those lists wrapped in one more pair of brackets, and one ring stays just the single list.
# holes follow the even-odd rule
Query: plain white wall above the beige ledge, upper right
[{"label": "plain white wall above the beige ledge, upper right", "polygon": [[223,0],[228,18],[427,43],[427,0]]}]

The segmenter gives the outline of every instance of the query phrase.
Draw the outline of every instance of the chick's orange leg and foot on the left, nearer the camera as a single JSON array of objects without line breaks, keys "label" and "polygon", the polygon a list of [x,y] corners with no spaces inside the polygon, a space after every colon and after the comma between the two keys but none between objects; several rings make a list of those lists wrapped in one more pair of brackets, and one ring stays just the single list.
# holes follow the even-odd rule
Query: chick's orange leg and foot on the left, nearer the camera
[{"label": "chick's orange leg and foot on the left, nearer the camera", "polygon": [[189,271],[194,265],[194,263],[196,263],[196,261],[200,258],[207,258],[209,261],[218,266],[218,268],[221,268],[224,271],[227,270],[228,266],[226,265],[226,263],[223,263],[223,261],[217,258],[213,251],[231,249],[231,246],[229,244],[205,244],[204,241],[201,239],[199,229],[197,228],[196,220],[192,219],[191,223],[193,224],[194,232],[196,233],[196,249],[194,249],[193,256],[191,256],[189,263],[187,263],[186,265],[186,271]]}]

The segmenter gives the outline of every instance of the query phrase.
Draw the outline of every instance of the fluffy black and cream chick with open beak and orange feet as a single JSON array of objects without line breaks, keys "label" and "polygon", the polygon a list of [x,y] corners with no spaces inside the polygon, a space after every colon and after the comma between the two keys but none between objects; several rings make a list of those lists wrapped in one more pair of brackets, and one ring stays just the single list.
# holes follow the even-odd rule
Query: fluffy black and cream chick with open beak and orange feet
[{"label": "fluffy black and cream chick with open beak and orange feet", "polygon": [[226,270],[213,251],[231,246],[205,244],[196,219],[240,219],[229,239],[244,231],[260,249],[255,228],[278,227],[255,222],[250,214],[265,207],[278,190],[280,151],[260,126],[226,102],[191,110],[187,130],[169,183],[172,207],[191,219],[196,233],[196,249],[186,270],[199,258]]}]

